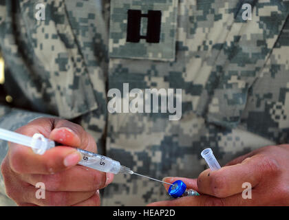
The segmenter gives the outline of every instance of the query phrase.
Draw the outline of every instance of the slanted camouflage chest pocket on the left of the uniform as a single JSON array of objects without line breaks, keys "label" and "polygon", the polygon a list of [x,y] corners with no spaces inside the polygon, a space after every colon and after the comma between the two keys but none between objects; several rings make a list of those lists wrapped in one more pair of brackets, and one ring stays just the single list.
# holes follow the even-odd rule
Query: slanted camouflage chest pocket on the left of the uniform
[{"label": "slanted camouflage chest pocket on the left of the uniform", "polygon": [[[72,30],[65,1],[45,3],[45,21],[35,19],[38,1],[19,1],[21,28],[32,47],[32,72],[39,78],[41,93],[49,97],[56,114],[63,118],[75,118],[98,108],[92,80],[81,47]],[[74,10],[77,9],[77,5]],[[85,10],[85,8],[82,8]],[[41,86],[40,86],[41,85]],[[32,89],[28,87],[28,90]],[[30,97],[33,100],[34,97]]]}]

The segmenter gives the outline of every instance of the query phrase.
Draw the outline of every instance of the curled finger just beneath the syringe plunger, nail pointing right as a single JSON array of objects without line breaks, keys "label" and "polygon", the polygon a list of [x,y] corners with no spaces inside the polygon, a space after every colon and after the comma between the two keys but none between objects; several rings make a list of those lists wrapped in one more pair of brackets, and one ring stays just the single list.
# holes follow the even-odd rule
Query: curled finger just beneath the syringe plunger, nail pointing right
[{"label": "curled finger just beneath the syringe plunger, nail pointing right", "polygon": [[82,158],[76,149],[59,146],[46,151],[43,155],[35,154],[30,148],[11,144],[9,162],[15,173],[53,174],[76,165]]}]

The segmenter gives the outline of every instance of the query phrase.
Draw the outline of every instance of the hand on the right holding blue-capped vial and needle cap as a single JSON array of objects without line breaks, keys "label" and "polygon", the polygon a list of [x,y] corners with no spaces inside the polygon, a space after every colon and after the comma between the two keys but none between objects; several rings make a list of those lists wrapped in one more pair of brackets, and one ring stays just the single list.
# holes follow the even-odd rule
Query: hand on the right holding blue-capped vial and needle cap
[{"label": "hand on the right holding blue-capped vial and needle cap", "polygon": [[[266,146],[234,159],[220,170],[204,170],[197,179],[184,181],[200,196],[158,201],[149,206],[289,206],[289,145]],[[252,186],[251,199],[244,199],[244,183]],[[165,186],[168,190],[169,186]]]}]

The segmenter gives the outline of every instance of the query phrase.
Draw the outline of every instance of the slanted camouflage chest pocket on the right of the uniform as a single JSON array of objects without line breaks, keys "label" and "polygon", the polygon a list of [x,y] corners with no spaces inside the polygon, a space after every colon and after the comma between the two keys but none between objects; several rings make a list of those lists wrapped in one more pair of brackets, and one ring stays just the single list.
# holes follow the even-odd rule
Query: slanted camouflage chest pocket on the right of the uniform
[{"label": "slanted camouflage chest pocket on the right of the uniform", "polygon": [[288,16],[281,1],[272,1],[270,7],[256,2],[252,20],[244,21],[243,12],[240,8],[235,14],[226,41],[215,45],[220,53],[197,109],[207,122],[229,128],[239,124],[248,91],[264,69]]}]

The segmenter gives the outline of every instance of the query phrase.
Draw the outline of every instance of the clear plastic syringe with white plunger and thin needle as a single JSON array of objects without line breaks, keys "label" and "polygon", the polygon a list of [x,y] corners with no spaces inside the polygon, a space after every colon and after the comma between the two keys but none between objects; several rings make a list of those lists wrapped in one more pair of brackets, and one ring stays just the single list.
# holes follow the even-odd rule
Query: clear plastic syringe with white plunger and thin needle
[{"label": "clear plastic syringe with white plunger and thin needle", "polygon": [[[32,148],[34,153],[39,155],[43,155],[45,151],[56,146],[56,142],[47,139],[40,133],[36,133],[32,137],[28,137],[26,135],[21,135],[20,133],[8,131],[5,129],[0,129],[0,140],[6,140],[8,142],[21,144],[23,146],[29,146],[30,148]],[[82,166],[87,166],[89,168],[93,168],[95,170],[99,170],[105,173],[114,173],[114,174],[127,173],[131,175],[132,174],[140,175],[138,173],[134,173],[133,170],[131,170],[130,168],[120,165],[120,162],[111,159],[109,157],[85,151],[80,148],[76,148],[76,150],[82,155],[81,161],[78,162],[78,164]],[[152,179],[154,181],[160,181],[163,184],[169,184],[165,181],[153,179],[151,177],[147,177],[144,175],[140,176]],[[173,186],[173,184],[169,185]]]}]

